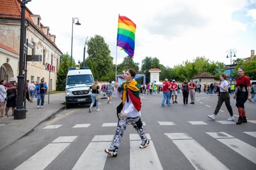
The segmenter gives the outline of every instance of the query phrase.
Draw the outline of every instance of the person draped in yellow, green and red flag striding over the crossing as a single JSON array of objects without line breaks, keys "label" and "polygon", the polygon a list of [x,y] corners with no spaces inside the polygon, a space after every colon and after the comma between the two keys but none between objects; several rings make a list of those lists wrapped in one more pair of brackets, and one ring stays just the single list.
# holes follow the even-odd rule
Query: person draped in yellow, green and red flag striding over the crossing
[{"label": "person draped in yellow, green and red flag striding over the crossing", "polygon": [[127,125],[132,125],[141,138],[140,148],[146,148],[149,140],[143,130],[143,123],[141,122],[141,101],[140,101],[140,85],[134,80],[136,72],[134,69],[127,69],[125,71],[125,83],[121,87],[116,87],[116,94],[122,99],[122,111],[118,118],[118,125],[115,136],[110,148],[104,151],[113,157],[117,156],[117,150],[120,146],[122,137],[124,135]]}]

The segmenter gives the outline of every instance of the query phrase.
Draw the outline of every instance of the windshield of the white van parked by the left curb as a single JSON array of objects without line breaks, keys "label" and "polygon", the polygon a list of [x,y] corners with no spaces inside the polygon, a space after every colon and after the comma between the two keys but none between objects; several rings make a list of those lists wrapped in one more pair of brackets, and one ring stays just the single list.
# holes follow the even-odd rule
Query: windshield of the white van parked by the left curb
[{"label": "windshield of the white van parked by the left curb", "polygon": [[67,77],[67,85],[93,83],[92,74],[70,75]]}]

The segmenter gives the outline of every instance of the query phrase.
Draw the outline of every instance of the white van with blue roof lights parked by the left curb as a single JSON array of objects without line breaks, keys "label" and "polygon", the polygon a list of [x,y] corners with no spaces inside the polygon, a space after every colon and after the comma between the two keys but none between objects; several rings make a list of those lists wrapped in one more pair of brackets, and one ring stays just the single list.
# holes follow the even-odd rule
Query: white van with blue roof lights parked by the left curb
[{"label": "white van with blue roof lights parked by the left curb", "polygon": [[90,87],[94,83],[89,67],[71,67],[66,80],[66,107],[75,103],[91,103]]}]

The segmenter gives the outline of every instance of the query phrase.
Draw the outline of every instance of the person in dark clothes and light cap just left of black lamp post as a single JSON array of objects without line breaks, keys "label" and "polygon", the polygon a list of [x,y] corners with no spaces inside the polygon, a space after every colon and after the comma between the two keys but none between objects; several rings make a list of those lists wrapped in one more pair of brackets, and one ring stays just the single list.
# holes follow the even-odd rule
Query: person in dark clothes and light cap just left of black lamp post
[{"label": "person in dark clothes and light cap just left of black lamp post", "polygon": [[[5,115],[8,117],[8,111],[12,108],[12,116],[14,116],[14,110],[16,108],[16,97],[17,97],[17,87],[15,85],[16,78],[11,78],[10,83],[6,83],[8,100],[6,101]],[[10,97],[12,96],[12,97]]]}]

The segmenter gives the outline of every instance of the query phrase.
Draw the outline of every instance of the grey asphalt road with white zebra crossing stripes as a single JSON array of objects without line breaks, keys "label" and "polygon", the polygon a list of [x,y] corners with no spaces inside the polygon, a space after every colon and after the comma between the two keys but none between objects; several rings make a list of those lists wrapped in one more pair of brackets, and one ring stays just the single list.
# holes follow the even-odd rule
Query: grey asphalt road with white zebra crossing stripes
[{"label": "grey asphalt road with white zebra crossing stripes", "polygon": [[[215,121],[207,118],[216,95],[196,94],[196,104],[184,105],[179,94],[178,104],[164,108],[162,94],[141,100],[141,120],[151,138],[147,148],[139,148],[138,134],[128,127],[118,156],[104,153],[115,134],[120,99],[101,99],[100,111],[61,111],[4,149],[0,169],[256,169],[255,103],[246,102],[248,123],[236,125],[225,121],[225,104]],[[231,104],[237,115],[234,99]]]}]

